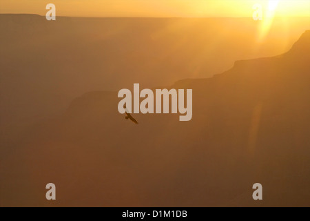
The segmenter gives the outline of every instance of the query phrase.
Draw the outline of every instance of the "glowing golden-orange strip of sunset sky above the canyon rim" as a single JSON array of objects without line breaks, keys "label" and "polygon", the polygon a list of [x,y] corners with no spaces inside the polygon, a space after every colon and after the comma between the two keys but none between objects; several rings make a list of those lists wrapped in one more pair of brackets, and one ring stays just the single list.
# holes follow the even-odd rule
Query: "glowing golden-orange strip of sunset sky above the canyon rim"
[{"label": "glowing golden-orange strip of sunset sky above the canyon rim", "polygon": [[310,16],[310,0],[1,0],[0,13],[45,15],[54,3],[72,17],[251,17],[255,3],[269,1],[279,2],[276,16]]}]

